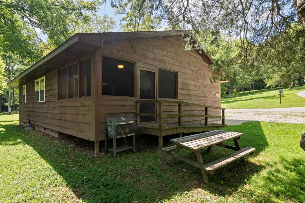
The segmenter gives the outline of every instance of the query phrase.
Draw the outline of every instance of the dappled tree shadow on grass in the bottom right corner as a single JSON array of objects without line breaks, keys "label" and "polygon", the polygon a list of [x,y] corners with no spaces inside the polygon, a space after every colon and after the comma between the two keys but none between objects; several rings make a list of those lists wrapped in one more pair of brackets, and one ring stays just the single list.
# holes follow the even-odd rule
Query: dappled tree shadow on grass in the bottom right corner
[{"label": "dappled tree shadow on grass in the bottom right corner", "polygon": [[[268,168],[255,174],[242,192],[255,202],[305,202],[305,162],[301,158],[287,159],[268,164]],[[259,190],[258,190],[259,188]]]}]

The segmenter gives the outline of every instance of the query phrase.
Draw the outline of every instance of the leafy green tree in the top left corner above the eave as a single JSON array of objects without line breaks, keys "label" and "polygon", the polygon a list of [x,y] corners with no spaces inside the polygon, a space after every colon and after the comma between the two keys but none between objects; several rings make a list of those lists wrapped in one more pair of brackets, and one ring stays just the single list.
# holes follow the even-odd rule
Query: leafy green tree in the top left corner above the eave
[{"label": "leafy green tree in the top left corner above the eave", "polygon": [[70,37],[72,23],[88,23],[100,5],[100,0],[0,0],[0,52],[36,61],[41,55],[31,42],[36,38],[48,47],[38,30],[58,46]]}]

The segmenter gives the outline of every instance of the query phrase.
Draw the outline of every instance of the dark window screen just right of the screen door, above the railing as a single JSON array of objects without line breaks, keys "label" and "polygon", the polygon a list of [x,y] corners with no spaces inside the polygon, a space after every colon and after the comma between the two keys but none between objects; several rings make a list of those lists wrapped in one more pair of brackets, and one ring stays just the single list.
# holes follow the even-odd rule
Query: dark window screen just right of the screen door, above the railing
[{"label": "dark window screen just right of the screen door, above the railing", "polygon": [[177,98],[177,73],[159,69],[159,98]]}]

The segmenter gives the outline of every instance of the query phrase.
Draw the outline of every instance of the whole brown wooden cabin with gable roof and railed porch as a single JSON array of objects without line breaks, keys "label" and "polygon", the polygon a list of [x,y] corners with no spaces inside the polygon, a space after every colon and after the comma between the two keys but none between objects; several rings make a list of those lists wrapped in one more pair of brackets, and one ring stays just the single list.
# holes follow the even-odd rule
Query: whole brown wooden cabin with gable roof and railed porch
[{"label": "whole brown wooden cabin with gable roof and railed porch", "polygon": [[[20,124],[94,141],[96,152],[110,116],[134,118],[143,126],[137,133],[159,136],[159,148],[169,134],[218,129],[220,82],[210,82],[210,55],[185,51],[189,36],[187,30],[73,35],[9,82],[19,87]],[[208,124],[220,119],[222,125]]]}]

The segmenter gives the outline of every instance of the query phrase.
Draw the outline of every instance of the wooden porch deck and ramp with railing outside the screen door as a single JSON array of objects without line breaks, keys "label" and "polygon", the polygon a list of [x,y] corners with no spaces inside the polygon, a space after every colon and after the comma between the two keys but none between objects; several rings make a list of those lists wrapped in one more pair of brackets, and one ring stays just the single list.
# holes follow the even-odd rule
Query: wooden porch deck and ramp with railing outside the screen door
[{"label": "wooden porch deck and ramp with railing outside the screen door", "polygon": [[[150,135],[156,135],[159,137],[159,149],[163,148],[163,136],[172,135],[172,134],[180,134],[182,137],[182,133],[195,133],[195,132],[206,132],[212,130],[219,130],[224,126],[224,110],[225,108],[201,105],[183,101],[170,101],[170,100],[139,100],[138,103],[138,112],[137,120],[140,121],[140,116],[150,116],[155,117],[157,119],[157,123],[138,123],[139,126],[143,128],[137,129],[137,133],[144,133]],[[156,103],[158,104],[158,113],[140,113],[140,103]],[[163,114],[163,104],[178,104],[178,113],[174,114]],[[183,105],[193,105],[204,108],[203,114],[185,114],[183,113],[182,106]],[[219,109],[221,111],[221,116],[214,116],[208,114],[208,109]],[[203,123],[183,123],[182,117],[201,117],[204,118]],[[163,118],[166,117],[178,117],[178,123],[163,123]],[[208,118],[219,118],[222,119],[222,124],[216,123],[208,123]]]}]

